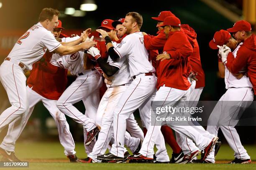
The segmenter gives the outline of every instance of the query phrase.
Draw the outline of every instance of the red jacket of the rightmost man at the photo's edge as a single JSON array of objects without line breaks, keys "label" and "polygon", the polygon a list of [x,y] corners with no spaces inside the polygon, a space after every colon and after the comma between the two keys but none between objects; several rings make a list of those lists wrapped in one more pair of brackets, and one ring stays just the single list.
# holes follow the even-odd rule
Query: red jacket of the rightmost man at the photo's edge
[{"label": "red jacket of the rightmost man at the photo's edge", "polygon": [[256,95],[256,35],[252,34],[243,42],[236,53],[236,58],[230,52],[227,60],[226,66],[230,72],[237,73],[243,67],[248,67],[248,76]]}]

